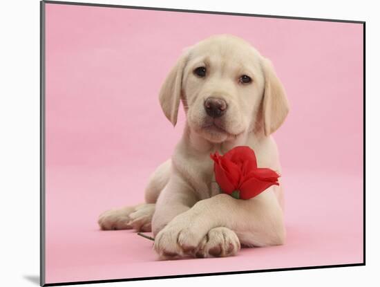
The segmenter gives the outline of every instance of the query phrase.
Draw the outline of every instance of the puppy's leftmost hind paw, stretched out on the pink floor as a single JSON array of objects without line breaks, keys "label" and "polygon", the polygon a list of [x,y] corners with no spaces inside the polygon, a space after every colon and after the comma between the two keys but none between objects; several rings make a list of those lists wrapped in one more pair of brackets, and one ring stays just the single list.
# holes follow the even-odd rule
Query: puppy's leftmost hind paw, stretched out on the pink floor
[{"label": "puppy's leftmost hind paw, stretched out on the pink floor", "polygon": [[100,214],[97,223],[102,230],[131,229],[129,214],[135,210],[134,206],[107,210]]}]

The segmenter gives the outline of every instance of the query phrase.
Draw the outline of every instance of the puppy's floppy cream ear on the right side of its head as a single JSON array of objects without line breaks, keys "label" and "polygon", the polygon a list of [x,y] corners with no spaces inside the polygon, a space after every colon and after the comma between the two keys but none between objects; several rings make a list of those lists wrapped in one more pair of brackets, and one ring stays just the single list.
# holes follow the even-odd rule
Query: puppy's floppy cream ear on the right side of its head
[{"label": "puppy's floppy cream ear on the right side of its head", "polygon": [[269,59],[263,59],[265,77],[263,97],[263,122],[266,136],[276,131],[283,124],[289,112],[283,84],[281,84]]}]

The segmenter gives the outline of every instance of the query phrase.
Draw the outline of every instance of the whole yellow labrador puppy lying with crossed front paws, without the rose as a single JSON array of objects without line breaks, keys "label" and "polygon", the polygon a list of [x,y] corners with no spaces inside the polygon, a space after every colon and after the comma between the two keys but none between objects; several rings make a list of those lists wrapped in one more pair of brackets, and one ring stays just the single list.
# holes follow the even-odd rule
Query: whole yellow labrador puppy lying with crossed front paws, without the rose
[{"label": "whole yellow labrador puppy lying with crossed front paws, without the rose", "polygon": [[247,145],[258,167],[281,172],[271,133],[288,113],[283,86],[268,59],[243,39],[216,35],[187,48],[160,91],[173,125],[182,102],[187,123],[170,160],[146,187],[146,203],[99,216],[104,230],[153,231],[162,259],[225,257],[240,246],[283,244],[281,185],[249,200],[220,194],[210,154]]}]

